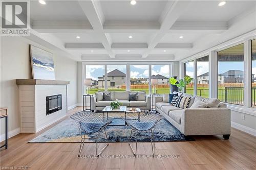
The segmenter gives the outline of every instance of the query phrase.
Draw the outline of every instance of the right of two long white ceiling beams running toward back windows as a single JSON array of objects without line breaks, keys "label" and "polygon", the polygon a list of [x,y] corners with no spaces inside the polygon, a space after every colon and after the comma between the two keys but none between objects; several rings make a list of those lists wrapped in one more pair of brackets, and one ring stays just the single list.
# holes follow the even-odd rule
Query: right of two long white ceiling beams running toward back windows
[{"label": "right of two long white ceiling beams running toward back windows", "polygon": [[148,43],[148,50],[146,50],[146,52],[142,55],[142,58],[146,58],[151,53],[151,51],[165,35],[164,32],[169,30],[174,25],[179,16],[189,5],[190,2],[187,1],[174,1],[168,3],[168,6],[165,8],[166,10],[163,11],[159,19],[161,21],[161,32],[156,34]]}]

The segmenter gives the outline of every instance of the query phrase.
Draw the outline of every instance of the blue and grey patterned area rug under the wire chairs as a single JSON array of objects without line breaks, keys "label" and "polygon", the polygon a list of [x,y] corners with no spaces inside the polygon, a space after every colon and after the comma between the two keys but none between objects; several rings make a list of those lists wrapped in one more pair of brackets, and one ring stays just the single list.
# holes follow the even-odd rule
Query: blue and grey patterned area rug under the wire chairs
[{"label": "blue and grey patterned area rug under the wire chairs", "polygon": [[[122,120],[117,120],[120,124]],[[109,142],[128,142],[130,139],[131,128],[129,126],[108,126],[106,133],[109,136]],[[156,142],[169,142],[169,141],[185,141],[185,136],[170,124],[166,119],[160,120],[155,128],[155,141]],[[95,137],[97,134],[91,134],[87,137]],[[138,134],[138,141],[150,142],[150,133]],[[71,118],[63,120],[63,122],[42,133],[36,138],[29,141],[29,143],[48,143],[48,142],[80,142],[81,137],[79,129],[75,121]],[[104,132],[101,132],[99,142],[106,142]],[[132,137],[132,141],[136,141]],[[93,139],[87,139],[86,142],[94,142]]]}]

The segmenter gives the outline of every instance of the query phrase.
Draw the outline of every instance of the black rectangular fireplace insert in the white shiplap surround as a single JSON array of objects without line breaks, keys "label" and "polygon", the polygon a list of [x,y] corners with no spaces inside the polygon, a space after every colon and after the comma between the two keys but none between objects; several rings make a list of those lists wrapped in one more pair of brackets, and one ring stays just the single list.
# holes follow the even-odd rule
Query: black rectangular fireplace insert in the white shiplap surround
[{"label": "black rectangular fireplace insert in the white shiplap surround", "polygon": [[46,97],[46,115],[62,109],[61,94]]}]

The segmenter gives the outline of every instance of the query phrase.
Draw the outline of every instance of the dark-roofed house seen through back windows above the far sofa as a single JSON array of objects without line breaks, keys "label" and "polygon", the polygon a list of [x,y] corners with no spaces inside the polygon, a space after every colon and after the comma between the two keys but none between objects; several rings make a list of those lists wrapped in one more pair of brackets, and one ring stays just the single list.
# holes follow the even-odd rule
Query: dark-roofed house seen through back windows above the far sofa
[{"label": "dark-roofed house seen through back windows above the far sofa", "polygon": [[[119,71],[118,69],[114,69],[108,73],[108,87],[118,87],[120,88],[122,85],[126,84],[126,75]],[[102,77],[98,77],[99,87],[104,87],[105,75]]]}]

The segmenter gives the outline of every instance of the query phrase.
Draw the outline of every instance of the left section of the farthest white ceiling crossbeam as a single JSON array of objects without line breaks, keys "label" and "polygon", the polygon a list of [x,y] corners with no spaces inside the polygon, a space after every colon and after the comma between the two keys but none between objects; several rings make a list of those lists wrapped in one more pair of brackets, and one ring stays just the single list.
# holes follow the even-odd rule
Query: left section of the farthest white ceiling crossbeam
[{"label": "left section of the farthest white ceiling crossbeam", "polygon": [[102,43],[66,43],[65,48],[104,49]]}]

